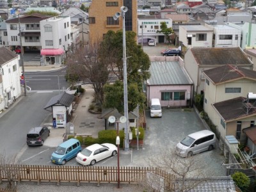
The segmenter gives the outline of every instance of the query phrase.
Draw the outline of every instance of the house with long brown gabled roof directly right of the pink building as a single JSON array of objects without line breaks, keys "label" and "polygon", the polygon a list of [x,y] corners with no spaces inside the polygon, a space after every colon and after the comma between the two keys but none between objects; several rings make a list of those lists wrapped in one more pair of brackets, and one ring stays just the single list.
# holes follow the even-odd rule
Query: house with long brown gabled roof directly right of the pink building
[{"label": "house with long brown gabled roof directly right of the pink building", "polygon": [[184,67],[194,83],[196,93],[204,93],[204,70],[223,65],[237,65],[252,70],[253,63],[240,47],[191,48],[185,54]]}]

